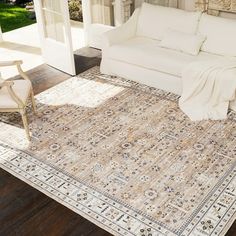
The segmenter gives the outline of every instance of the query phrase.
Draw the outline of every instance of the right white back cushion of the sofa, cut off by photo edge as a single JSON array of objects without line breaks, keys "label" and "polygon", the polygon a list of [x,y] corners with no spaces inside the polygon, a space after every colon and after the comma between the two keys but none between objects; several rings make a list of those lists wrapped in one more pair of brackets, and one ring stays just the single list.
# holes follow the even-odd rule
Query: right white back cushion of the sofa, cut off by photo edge
[{"label": "right white back cushion of the sofa, cut off by photo edge", "polygon": [[199,33],[206,36],[202,51],[236,56],[236,20],[203,14]]}]

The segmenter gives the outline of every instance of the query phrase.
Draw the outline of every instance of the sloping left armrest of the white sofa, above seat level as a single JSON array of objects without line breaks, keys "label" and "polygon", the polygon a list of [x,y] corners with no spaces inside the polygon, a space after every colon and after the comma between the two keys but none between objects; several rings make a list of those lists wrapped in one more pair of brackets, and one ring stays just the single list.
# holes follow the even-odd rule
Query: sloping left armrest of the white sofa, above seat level
[{"label": "sloping left armrest of the white sofa, above seat level", "polygon": [[132,38],[135,35],[139,11],[140,9],[136,9],[126,23],[103,34],[102,50]]}]

